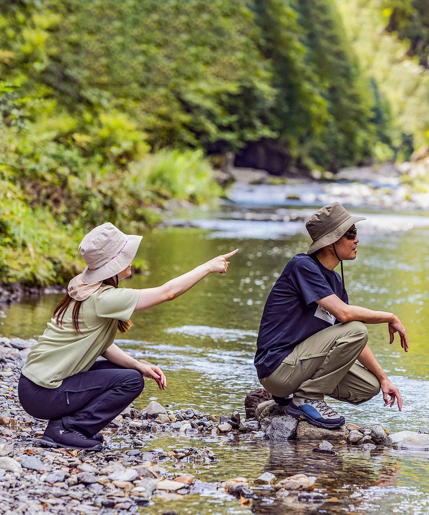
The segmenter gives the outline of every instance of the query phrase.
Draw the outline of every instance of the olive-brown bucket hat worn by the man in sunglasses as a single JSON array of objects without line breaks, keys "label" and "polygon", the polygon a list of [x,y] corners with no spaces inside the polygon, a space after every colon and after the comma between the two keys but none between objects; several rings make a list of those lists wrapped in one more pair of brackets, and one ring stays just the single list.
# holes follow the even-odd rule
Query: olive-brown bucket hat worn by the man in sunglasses
[{"label": "olive-brown bucket hat worn by the man in sunglasses", "polygon": [[325,205],[316,211],[305,224],[305,228],[313,240],[308,247],[307,254],[313,254],[321,248],[335,243],[360,220],[366,220],[366,218],[352,216],[339,202]]}]

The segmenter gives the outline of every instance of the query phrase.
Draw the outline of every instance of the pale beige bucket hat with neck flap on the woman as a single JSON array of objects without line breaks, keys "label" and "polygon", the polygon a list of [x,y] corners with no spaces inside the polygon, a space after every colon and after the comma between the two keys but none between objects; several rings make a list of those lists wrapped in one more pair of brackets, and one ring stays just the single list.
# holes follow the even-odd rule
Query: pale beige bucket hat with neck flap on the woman
[{"label": "pale beige bucket hat with neck flap on the woman", "polygon": [[110,222],[95,227],[79,244],[79,254],[87,267],[68,283],[68,295],[87,299],[101,282],[125,270],[139,248],[143,236],[124,234]]}]

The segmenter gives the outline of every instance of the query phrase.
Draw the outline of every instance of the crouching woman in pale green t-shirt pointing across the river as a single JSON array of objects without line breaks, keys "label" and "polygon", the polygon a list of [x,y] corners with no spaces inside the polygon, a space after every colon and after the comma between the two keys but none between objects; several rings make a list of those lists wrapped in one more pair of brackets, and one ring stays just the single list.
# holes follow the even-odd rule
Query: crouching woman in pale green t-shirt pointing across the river
[{"label": "crouching woman in pale green t-shirt pointing across the river", "polygon": [[[218,256],[156,288],[118,288],[118,282],[131,275],[141,239],[106,222],[79,245],[87,267],[70,281],[68,293],[28,354],[18,384],[27,413],[49,420],[43,445],[99,450],[99,431],[139,397],[143,377],[165,390],[162,370],[119,349],[113,343],[116,331],[125,333],[132,327],[129,318],[134,311],[175,299],[209,273],[226,273],[227,259],[237,252]],[[98,356],[107,361],[96,361]]]}]

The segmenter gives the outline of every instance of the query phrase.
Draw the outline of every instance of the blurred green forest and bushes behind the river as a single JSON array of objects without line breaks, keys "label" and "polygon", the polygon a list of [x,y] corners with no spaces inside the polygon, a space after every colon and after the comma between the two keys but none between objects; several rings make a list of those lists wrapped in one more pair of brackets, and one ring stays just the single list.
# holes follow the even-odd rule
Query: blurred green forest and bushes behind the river
[{"label": "blurred green forest and bushes behind the river", "polygon": [[213,167],[336,173],[429,141],[428,0],[0,4],[0,282],[76,271],[110,220],[207,203]]}]

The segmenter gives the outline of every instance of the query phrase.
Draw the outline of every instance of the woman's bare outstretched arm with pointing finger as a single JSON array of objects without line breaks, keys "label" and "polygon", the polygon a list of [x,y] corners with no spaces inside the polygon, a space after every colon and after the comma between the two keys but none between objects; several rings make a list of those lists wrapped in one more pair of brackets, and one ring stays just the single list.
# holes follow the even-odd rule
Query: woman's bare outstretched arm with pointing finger
[{"label": "woman's bare outstretched arm with pointing finger", "polygon": [[228,254],[222,254],[217,256],[203,265],[197,266],[190,272],[184,273],[183,276],[171,279],[162,286],[156,288],[145,288],[140,292],[140,299],[135,306],[134,311],[147,310],[148,307],[162,304],[167,300],[173,300],[179,297],[195,286],[201,279],[207,276],[209,273],[227,273],[229,261],[234,254],[238,252],[238,249],[229,252]]}]

